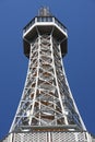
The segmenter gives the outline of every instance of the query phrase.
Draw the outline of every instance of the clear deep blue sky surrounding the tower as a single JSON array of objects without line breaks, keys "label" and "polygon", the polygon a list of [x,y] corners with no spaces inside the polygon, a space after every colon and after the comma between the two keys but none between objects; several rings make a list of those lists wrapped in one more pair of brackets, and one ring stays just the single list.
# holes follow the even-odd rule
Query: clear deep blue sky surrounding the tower
[{"label": "clear deep blue sky surrounding the tower", "polygon": [[26,78],[22,29],[41,5],[68,27],[68,81],[87,130],[95,134],[95,0],[1,0],[0,139],[9,132]]}]

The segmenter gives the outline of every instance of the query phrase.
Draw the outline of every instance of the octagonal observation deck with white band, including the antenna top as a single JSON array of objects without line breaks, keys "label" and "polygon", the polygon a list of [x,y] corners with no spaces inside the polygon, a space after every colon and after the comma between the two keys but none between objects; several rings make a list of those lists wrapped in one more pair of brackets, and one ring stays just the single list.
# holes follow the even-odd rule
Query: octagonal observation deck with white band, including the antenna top
[{"label": "octagonal observation deck with white band, including the antenna top", "polygon": [[29,57],[31,44],[38,35],[51,35],[58,42],[61,55],[67,54],[67,27],[50,13],[49,8],[40,8],[38,15],[23,28],[24,54],[26,57]]}]

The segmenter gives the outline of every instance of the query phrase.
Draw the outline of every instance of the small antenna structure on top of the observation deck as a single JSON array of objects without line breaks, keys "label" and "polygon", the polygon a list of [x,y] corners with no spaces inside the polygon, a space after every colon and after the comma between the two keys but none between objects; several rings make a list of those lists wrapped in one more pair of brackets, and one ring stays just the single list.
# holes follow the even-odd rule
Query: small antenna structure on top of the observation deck
[{"label": "small antenna structure on top of the observation deck", "polygon": [[49,11],[49,8],[40,8],[38,11],[38,16],[51,16],[51,13]]}]

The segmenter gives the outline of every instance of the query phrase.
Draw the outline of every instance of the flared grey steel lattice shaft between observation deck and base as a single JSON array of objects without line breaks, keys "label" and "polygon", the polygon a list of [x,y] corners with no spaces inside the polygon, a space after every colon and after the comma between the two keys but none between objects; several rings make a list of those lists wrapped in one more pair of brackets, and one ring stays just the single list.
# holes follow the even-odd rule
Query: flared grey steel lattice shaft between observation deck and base
[{"label": "flared grey steel lattice shaft between observation deck and base", "polygon": [[26,82],[11,131],[61,125],[85,129],[68,85],[60,44],[51,34],[38,34],[31,43]]}]

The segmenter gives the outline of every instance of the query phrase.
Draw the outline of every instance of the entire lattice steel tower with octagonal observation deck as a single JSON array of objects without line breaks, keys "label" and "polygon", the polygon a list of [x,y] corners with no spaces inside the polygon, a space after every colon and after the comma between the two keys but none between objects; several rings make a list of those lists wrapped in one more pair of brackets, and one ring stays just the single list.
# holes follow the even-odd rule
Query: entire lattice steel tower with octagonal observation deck
[{"label": "entire lattice steel tower with octagonal observation deck", "polygon": [[67,40],[66,26],[47,8],[24,27],[29,61],[10,142],[91,142],[64,72]]}]

